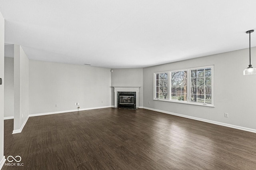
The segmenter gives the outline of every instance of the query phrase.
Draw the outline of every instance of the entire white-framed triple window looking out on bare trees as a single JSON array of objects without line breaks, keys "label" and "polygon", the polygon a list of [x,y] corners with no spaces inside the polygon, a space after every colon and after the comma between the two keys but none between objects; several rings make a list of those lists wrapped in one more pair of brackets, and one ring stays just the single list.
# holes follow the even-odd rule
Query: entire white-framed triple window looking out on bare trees
[{"label": "entire white-framed triple window looking out on bare trees", "polygon": [[214,66],[154,73],[154,100],[214,106]]}]

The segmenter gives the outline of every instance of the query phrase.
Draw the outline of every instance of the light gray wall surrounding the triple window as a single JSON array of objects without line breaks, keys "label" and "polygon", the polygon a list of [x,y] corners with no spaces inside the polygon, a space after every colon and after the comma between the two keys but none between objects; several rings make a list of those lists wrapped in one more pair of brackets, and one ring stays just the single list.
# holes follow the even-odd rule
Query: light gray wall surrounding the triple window
[{"label": "light gray wall surrounding the triple window", "polygon": [[[256,67],[256,47],[251,49],[252,66]],[[214,65],[214,105],[205,107],[153,100],[154,77],[158,71],[169,71]],[[249,65],[249,49],[242,49],[179,61],[143,69],[144,107],[220,123],[256,129],[256,76],[244,76]],[[150,102],[150,104],[148,104]],[[229,113],[229,117],[224,117]]]}]

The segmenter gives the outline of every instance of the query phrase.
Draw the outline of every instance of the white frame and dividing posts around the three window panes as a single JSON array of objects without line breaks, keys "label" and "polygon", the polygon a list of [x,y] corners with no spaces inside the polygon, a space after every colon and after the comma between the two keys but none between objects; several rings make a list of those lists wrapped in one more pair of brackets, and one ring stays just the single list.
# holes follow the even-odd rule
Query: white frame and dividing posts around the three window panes
[{"label": "white frame and dividing posts around the three window panes", "polygon": [[[204,68],[211,68],[211,78],[212,78],[212,103],[199,103],[199,102],[192,102],[190,101],[191,97],[191,70],[194,69],[204,69]],[[176,71],[187,71],[187,99],[186,101],[179,101],[179,100],[171,100],[171,72]],[[158,73],[167,73],[168,74],[168,98],[167,99],[159,99],[156,98],[156,74]],[[206,106],[206,107],[214,107],[214,65],[208,65],[208,66],[202,66],[202,67],[193,67],[188,69],[179,69],[179,70],[172,70],[172,71],[161,71],[154,73],[154,96],[153,100],[157,101],[168,101],[168,102],[174,102],[174,103],[184,103],[189,105],[199,105],[199,106]]]}]

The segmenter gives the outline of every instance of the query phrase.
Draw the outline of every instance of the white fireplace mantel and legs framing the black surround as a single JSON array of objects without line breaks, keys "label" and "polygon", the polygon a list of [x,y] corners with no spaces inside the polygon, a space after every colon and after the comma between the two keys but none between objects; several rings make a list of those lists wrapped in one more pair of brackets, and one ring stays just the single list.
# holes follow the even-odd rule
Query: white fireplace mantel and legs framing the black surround
[{"label": "white fireplace mantel and legs framing the black surround", "polygon": [[117,92],[136,92],[136,107],[139,107],[140,86],[114,86],[114,107],[117,108]]}]

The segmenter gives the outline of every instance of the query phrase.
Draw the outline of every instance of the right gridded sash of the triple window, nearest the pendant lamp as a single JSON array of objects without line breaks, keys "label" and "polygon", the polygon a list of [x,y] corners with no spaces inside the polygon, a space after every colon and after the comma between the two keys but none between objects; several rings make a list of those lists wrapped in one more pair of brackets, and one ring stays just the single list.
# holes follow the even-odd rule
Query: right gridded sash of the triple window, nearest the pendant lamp
[{"label": "right gridded sash of the triple window, nearest the pendant lamp", "polygon": [[190,70],[190,101],[212,103],[212,68]]}]

